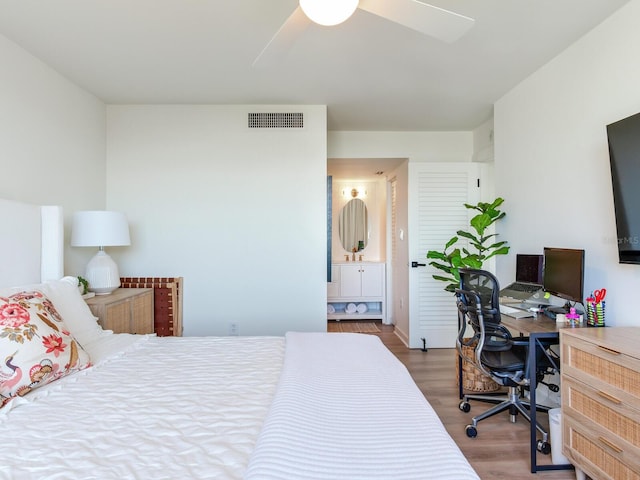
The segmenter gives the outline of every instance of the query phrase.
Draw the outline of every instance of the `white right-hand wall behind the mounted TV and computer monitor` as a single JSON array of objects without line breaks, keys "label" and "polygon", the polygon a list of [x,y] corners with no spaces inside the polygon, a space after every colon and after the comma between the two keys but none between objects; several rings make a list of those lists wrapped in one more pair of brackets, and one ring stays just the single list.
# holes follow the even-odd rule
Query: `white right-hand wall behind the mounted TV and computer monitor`
[{"label": "white right-hand wall behind the mounted TV and computer monitor", "polygon": [[[495,172],[515,253],[584,248],[585,293],[605,287],[607,324],[631,310],[640,266],[617,258],[605,127],[640,111],[640,0],[632,0],[495,105]],[[515,255],[497,259],[512,279]]]}]

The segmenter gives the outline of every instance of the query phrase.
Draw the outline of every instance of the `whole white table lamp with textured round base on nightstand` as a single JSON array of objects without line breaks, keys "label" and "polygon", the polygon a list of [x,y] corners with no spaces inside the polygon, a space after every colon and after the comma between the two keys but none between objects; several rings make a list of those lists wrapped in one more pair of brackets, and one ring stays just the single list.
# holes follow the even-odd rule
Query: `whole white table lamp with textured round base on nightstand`
[{"label": "whole white table lamp with textured round base on nightstand", "polygon": [[118,265],[104,247],[131,245],[127,217],[120,212],[90,210],[73,215],[72,247],[98,247],[98,253],[87,264],[85,276],[89,290],[107,295],[120,286]]}]

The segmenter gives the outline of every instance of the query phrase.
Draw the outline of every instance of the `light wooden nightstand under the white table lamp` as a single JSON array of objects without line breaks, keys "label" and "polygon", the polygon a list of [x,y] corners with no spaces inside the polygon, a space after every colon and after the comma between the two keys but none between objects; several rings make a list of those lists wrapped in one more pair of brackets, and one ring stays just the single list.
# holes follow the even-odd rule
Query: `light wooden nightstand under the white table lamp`
[{"label": "light wooden nightstand under the white table lamp", "polygon": [[105,330],[153,333],[153,288],[119,288],[110,295],[96,295],[86,302]]}]

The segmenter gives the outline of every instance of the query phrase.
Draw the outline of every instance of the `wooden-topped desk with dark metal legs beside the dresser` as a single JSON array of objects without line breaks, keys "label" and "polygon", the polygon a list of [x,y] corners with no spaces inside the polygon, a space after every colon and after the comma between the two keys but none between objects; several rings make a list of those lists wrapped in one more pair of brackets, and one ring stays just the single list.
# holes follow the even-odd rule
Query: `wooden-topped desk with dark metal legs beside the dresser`
[{"label": "wooden-topped desk with dark metal legs beside the dresser", "polygon": [[[573,465],[538,465],[537,463],[537,434],[536,434],[536,388],[538,386],[536,370],[537,370],[537,355],[536,349],[540,348],[545,350],[544,344],[559,344],[560,343],[560,330],[563,329],[580,329],[587,328],[586,319],[578,326],[569,326],[566,323],[556,323],[555,320],[547,317],[546,315],[536,315],[530,318],[513,318],[507,315],[501,315],[502,324],[506,326],[511,335],[516,337],[520,336],[529,337],[529,378],[531,384],[529,387],[529,402],[531,404],[531,410],[529,415],[531,417],[531,473],[536,473],[540,470],[569,470],[573,468]],[[551,357],[547,357],[553,367],[560,371],[560,365],[557,364]]]}]

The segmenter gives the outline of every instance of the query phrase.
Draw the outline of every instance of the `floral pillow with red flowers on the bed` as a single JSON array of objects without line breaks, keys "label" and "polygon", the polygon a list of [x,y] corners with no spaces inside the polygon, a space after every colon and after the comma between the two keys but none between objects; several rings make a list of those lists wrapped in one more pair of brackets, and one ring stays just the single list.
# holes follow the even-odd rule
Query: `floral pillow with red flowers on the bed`
[{"label": "floral pillow with red flowers on the bed", "polygon": [[0,297],[0,408],[91,366],[53,303],[39,291]]}]

